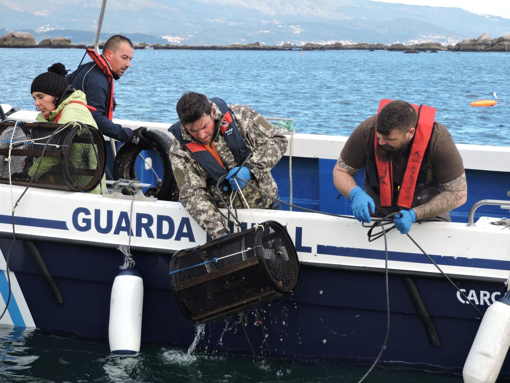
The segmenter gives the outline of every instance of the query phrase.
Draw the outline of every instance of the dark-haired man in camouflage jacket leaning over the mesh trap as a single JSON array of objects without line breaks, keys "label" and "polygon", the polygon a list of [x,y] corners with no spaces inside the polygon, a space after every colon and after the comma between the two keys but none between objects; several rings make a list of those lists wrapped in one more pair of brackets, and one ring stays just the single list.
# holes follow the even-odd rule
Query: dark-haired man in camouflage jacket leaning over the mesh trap
[{"label": "dark-haired man in camouflage jacket leaning over the mesh trap", "polygon": [[[214,100],[224,104],[220,99]],[[197,105],[201,105],[201,107],[197,107]],[[226,108],[226,105],[223,108]],[[185,93],[177,103],[176,109],[180,122],[174,124],[169,131],[179,139],[172,141],[170,161],[175,181],[179,185],[180,201],[191,217],[211,238],[219,238],[230,232],[224,218],[215,208],[214,200],[218,207],[224,207],[224,205],[214,192],[215,180],[189,148],[194,146],[202,152],[203,148],[207,149],[208,152],[215,155],[214,158],[220,165],[223,165],[223,169],[227,173],[241,165],[236,161],[227,141],[221,134],[225,130],[225,118],[228,118],[225,114],[228,114],[228,111],[238,127],[247,150],[251,152],[251,157],[244,164],[249,169],[249,183],[246,183],[244,187],[243,185],[239,186],[242,188],[241,191],[248,206],[263,209],[281,208],[278,201],[275,203],[273,198],[262,195],[257,189],[251,187],[250,183],[258,185],[270,196],[278,196],[278,187],[270,171],[287,150],[288,141],[282,133],[247,105],[228,105],[228,111],[222,113],[215,102],[208,100],[205,95],[200,93]],[[203,110],[207,110],[207,112],[203,112]],[[197,118],[197,116],[199,117]],[[221,129],[222,123],[223,130]],[[226,130],[224,133],[228,134],[229,131]],[[189,143],[186,145],[185,142]],[[220,158],[217,158],[217,155]],[[221,170],[223,171],[223,169]],[[233,181],[230,182],[233,183]],[[241,182],[238,181],[238,183]],[[236,188],[236,185],[232,185],[232,188]],[[232,188],[220,188],[220,193],[227,203],[230,203]],[[246,208],[240,193],[237,193],[235,202],[238,207]]]}]

